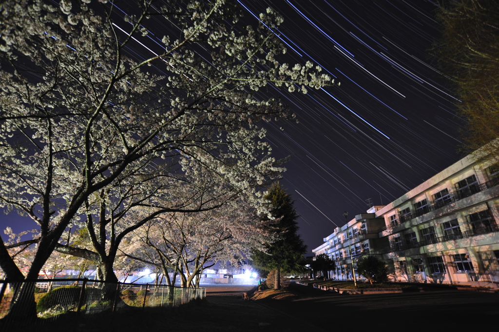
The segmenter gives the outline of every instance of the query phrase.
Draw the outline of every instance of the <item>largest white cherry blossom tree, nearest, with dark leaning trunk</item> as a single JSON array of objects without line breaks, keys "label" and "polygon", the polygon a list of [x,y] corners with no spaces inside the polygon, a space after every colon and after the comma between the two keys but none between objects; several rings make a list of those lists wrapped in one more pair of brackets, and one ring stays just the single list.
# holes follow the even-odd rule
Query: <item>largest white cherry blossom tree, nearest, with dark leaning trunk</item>
[{"label": "largest white cherry blossom tree, nearest, with dark leaning trunk", "polygon": [[[94,223],[102,195],[120,200],[109,188],[126,181],[125,196],[151,174],[184,181],[204,169],[263,209],[259,188],[283,169],[259,121],[292,115],[277,99],[255,98],[258,89],[306,93],[330,83],[311,62],[278,61],[282,18],[272,9],[252,27],[222,0],[90,2],[1,4],[0,207],[39,225],[26,280],[37,278],[68,227]],[[164,36],[148,41],[157,23]],[[161,208],[178,211],[173,204]],[[113,216],[105,211],[98,222]],[[0,267],[24,278],[1,241]]]}]

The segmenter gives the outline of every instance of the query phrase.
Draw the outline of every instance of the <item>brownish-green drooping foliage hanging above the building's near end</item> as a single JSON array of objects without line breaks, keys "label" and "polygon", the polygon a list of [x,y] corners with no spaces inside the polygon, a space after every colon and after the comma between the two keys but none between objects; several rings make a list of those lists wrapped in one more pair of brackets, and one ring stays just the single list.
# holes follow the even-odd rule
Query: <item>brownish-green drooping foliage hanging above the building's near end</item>
[{"label": "brownish-green drooping foliage hanging above the building's near end", "polygon": [[466,153],[488,145],[499,156],[499,2],[446,1],[438,13],[443,25],[434,49],[452,80],[460,116],[466,121]]}]

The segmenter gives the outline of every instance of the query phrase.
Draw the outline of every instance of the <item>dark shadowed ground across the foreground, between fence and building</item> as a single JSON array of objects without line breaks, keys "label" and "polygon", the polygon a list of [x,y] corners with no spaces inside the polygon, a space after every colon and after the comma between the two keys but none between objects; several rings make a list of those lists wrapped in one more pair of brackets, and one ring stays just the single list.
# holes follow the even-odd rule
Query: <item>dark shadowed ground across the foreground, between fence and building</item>
[{"label": "dark shadowed ground across the foreground, between fence and building", "polygon": [[252,286],[207,289],[206,301],[183,308],[166,312],[146,309],[99,322],[60,322],[35,331],[498,331],[498,294],[438,290],[338,295],[290,284],[285,299],[276,300],[282,296],[274,294],[243,301],[242,293],[250,292]]}]

